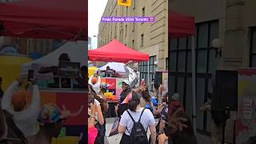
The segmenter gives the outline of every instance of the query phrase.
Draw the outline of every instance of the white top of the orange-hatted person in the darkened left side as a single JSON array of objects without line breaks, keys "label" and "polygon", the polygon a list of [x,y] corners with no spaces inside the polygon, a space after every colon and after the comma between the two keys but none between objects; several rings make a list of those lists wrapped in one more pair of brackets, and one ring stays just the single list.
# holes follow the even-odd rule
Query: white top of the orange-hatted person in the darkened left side
[{"label": "white top of the orange-hatted person in the darkened left side", "polygon": [[18,90],[18,82],[14,81],[6,90],[2,98],[2,109],[7,110],[10,114],[14,115],[14,122],[25,136],[31,136],[37,133],[36,122],[38,119],[38,112],[40,106],[40,96],[38,86],[33,86],[32,100],[29,107],[22,111],[14,111],[11,105],[11,98]]}]

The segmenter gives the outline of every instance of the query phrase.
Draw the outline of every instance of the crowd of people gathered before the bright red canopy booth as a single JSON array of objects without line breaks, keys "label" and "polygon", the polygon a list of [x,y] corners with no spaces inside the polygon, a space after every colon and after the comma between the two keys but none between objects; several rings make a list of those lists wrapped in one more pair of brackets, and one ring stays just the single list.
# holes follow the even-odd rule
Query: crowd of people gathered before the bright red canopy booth
[{"label": "crowd of people gathered before the bright red canopy booth", "polygon": [[[124,67],[129,76],[122,81],[122,93],[118,105],[115,107],[119,119],[118,133],[122,134],[120,143],[196,144],[197,140],[190,118],[186,116],[182,104],[178,102],[179,94],[173,94],[170,100],[168,93],[158,96],[157,91],[161,87],[159,88],[155,84],[155,95],[151,95],[146,83],[140,82],[138,64],[133,64],[130,69],[127,65],[131,63],[128,62]],[[94,95],[94,102],[88,104],[90,106],[88,108],[90,111],[88,118],[89,143],[107,143],[105,136],[106,113],[103,113],[103,109],[108,108],[104,104],[106,102],[104,98],[106,87],[98,82],[89,83],[89,94]],[[161,101],[158,100],[159,98]],[[156,123],[156,118],[159,119],[158,123]],[[148,130],[150,131],[149,139],[147,137]]]}]

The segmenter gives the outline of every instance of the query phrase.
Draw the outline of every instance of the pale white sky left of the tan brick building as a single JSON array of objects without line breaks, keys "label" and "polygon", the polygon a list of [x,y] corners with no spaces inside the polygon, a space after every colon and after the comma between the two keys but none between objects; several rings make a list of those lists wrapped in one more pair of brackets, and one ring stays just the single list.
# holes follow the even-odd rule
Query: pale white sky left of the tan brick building
[{"label": "pale white sky left of the tan brick building", "polygon": [[92,38],[91,45],[97,48],[98,24],[105,10],[107,0],[89,0],[88,1],[88,36]]}]

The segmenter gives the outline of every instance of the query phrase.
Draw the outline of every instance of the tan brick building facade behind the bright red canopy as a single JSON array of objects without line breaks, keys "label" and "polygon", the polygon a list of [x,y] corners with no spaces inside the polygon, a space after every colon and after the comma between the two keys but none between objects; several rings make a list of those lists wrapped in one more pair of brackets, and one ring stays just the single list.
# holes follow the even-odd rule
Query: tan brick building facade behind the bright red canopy
[{"label": "tan brick building facade behind the bright red canopy", "polygon": [[153,16],[155,22],[100,22],[98,29],[98,47],[106,45],[113,38],[150,55],[150,75],[148,75],[147,62],[140,62],[141,78],[150,82],[154,78],[155,70],[166,70],[168,57],[168,1],[167,0],[133,0],[130,7],[118,6],[116,0],[109,0],[103,16],[133,17]]}]

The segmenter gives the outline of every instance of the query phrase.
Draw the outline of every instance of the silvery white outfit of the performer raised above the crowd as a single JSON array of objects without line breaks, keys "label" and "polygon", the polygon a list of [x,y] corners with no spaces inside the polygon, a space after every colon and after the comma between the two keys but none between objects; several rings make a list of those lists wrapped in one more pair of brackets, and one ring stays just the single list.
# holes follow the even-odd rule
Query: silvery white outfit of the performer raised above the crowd
[{"label": "silvery white outfit of the performer raised above the crowd", "polygon": [[133,69],[131,69],[128,66],[124,66],[126,73],[129,74],[127,80],[130,84],[130,87],[134,88],[134,87],[139,87],[139,81],[140,81],[140,73],[137,71],[135,72]]}]

